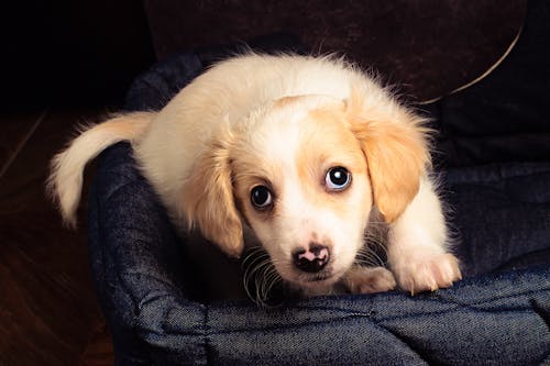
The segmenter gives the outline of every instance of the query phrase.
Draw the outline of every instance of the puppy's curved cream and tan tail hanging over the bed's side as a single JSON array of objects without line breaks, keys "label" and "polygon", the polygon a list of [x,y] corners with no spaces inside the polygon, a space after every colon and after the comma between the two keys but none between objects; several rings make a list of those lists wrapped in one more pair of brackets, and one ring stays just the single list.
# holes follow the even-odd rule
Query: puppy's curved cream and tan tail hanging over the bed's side
[{"label": "puppy's curved cream and tan tail hanging over the bed's side", "polygon": [[76,225],[76,209],[80,201],[86,164],[110,145],[140,137],[153,115],[148,112],[122,114],[86,127],[65,151],[52,159],[46,190],[57,203],[68,226]]}]

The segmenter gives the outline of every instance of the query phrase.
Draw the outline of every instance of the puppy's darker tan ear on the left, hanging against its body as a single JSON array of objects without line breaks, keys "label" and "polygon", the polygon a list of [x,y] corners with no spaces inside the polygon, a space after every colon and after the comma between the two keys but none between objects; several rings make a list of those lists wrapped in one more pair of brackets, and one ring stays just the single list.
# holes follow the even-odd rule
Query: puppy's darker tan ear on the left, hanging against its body
[{"label": "puppy's darker tan ear on the left, hanging against its body", "polygon": [[239,257],[243,229],[232,188],[229,152],[217,143],[199,157],[193,175],[185,181],[180,214],[189,229],[198,228],[228,255]]}]

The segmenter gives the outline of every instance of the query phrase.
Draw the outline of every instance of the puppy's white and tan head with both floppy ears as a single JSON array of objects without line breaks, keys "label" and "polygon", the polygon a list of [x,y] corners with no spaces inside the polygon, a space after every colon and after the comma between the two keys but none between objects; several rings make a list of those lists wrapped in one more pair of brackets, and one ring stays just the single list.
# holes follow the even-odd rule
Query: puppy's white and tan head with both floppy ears
[{"label": "puppy's white and tan head with both floppy ears", "polygon": [[232,256],[249,225],[276,270],[300,288],[338,281],[376,204],[396,220],[428,163],[419,120],[387,100],[279,99],[228,127],[187,180],[184,214]]}]

